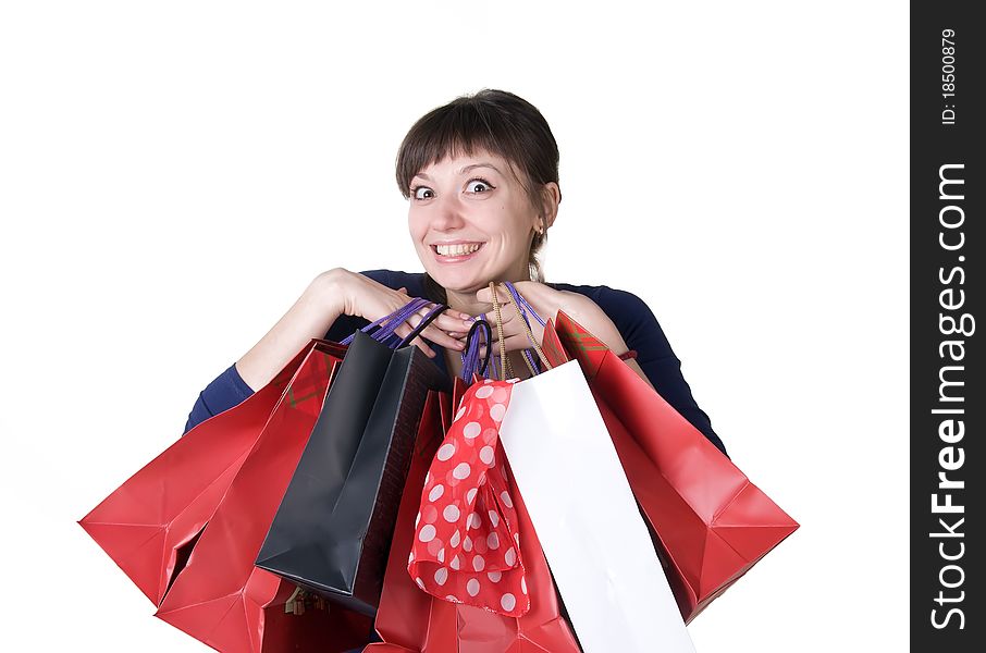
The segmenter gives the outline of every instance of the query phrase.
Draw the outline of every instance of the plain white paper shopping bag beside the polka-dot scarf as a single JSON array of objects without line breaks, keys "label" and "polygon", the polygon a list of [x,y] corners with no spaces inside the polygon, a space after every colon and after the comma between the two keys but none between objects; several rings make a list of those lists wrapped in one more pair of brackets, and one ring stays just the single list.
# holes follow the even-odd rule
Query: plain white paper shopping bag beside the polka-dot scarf
[{"label": "plain white paper shopping bag beside the polka-dot scarf", "polygon": [[586,653],[694,653],[578,362],[516,383],[500,438]]}]

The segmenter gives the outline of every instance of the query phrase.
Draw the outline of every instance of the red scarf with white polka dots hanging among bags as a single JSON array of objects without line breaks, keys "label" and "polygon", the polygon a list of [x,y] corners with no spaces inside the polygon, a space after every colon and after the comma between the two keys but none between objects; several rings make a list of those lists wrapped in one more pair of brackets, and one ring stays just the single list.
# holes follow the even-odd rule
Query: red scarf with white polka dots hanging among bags
[{"label": "red scarf with white polka dots hanging among bags", "polygon": [[428,470],[407,570],[433,596],[520,617],[530,597],[523,560],[507,546],[519,533],[500,448],[512,389],[486,380],[463,396]]}]

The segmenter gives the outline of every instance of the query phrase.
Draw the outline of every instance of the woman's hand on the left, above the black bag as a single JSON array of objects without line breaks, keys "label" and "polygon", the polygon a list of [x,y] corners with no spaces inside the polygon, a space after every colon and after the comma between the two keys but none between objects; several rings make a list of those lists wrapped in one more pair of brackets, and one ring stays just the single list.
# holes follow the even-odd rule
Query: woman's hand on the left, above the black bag
[{"label": "woman's hand on the left, above the black bag", "polygon": [[[324,278],[325,292],[340,303],[337,308],[342,315],[360,317],[371,322],[391,315],[411,299],[408,297],[406,288],[395,291],[368,276],[357,272],[349,272],[343,268],[324,272],[320,278]],[[428,305],[417,313],[411,315],[394,333],[399,337],[406,337],[421,323],[421,320],[432,308],[434,308],[434,305]],[[420,336],[411,341],[411,344],[417,345],[419,349],[432,358],[435,353],[422,337],[448,349],[461,352],[465,348],[465,343],[461,340],[463,319],[468,317],[466,313],[451,309],[444,310],[424,328]],[[458,334],[459,337],[452,334]]]}]

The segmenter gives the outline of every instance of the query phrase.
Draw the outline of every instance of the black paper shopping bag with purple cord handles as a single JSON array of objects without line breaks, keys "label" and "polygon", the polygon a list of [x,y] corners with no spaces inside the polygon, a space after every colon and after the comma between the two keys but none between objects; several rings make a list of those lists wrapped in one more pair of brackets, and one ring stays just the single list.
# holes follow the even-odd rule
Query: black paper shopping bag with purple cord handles
[{"label": "black paper shopping bag with purple cord handles", "polygon": [[428,392],[447,382],[417,347],[358,333],[257,566],[374,615],[418,420]]}]

